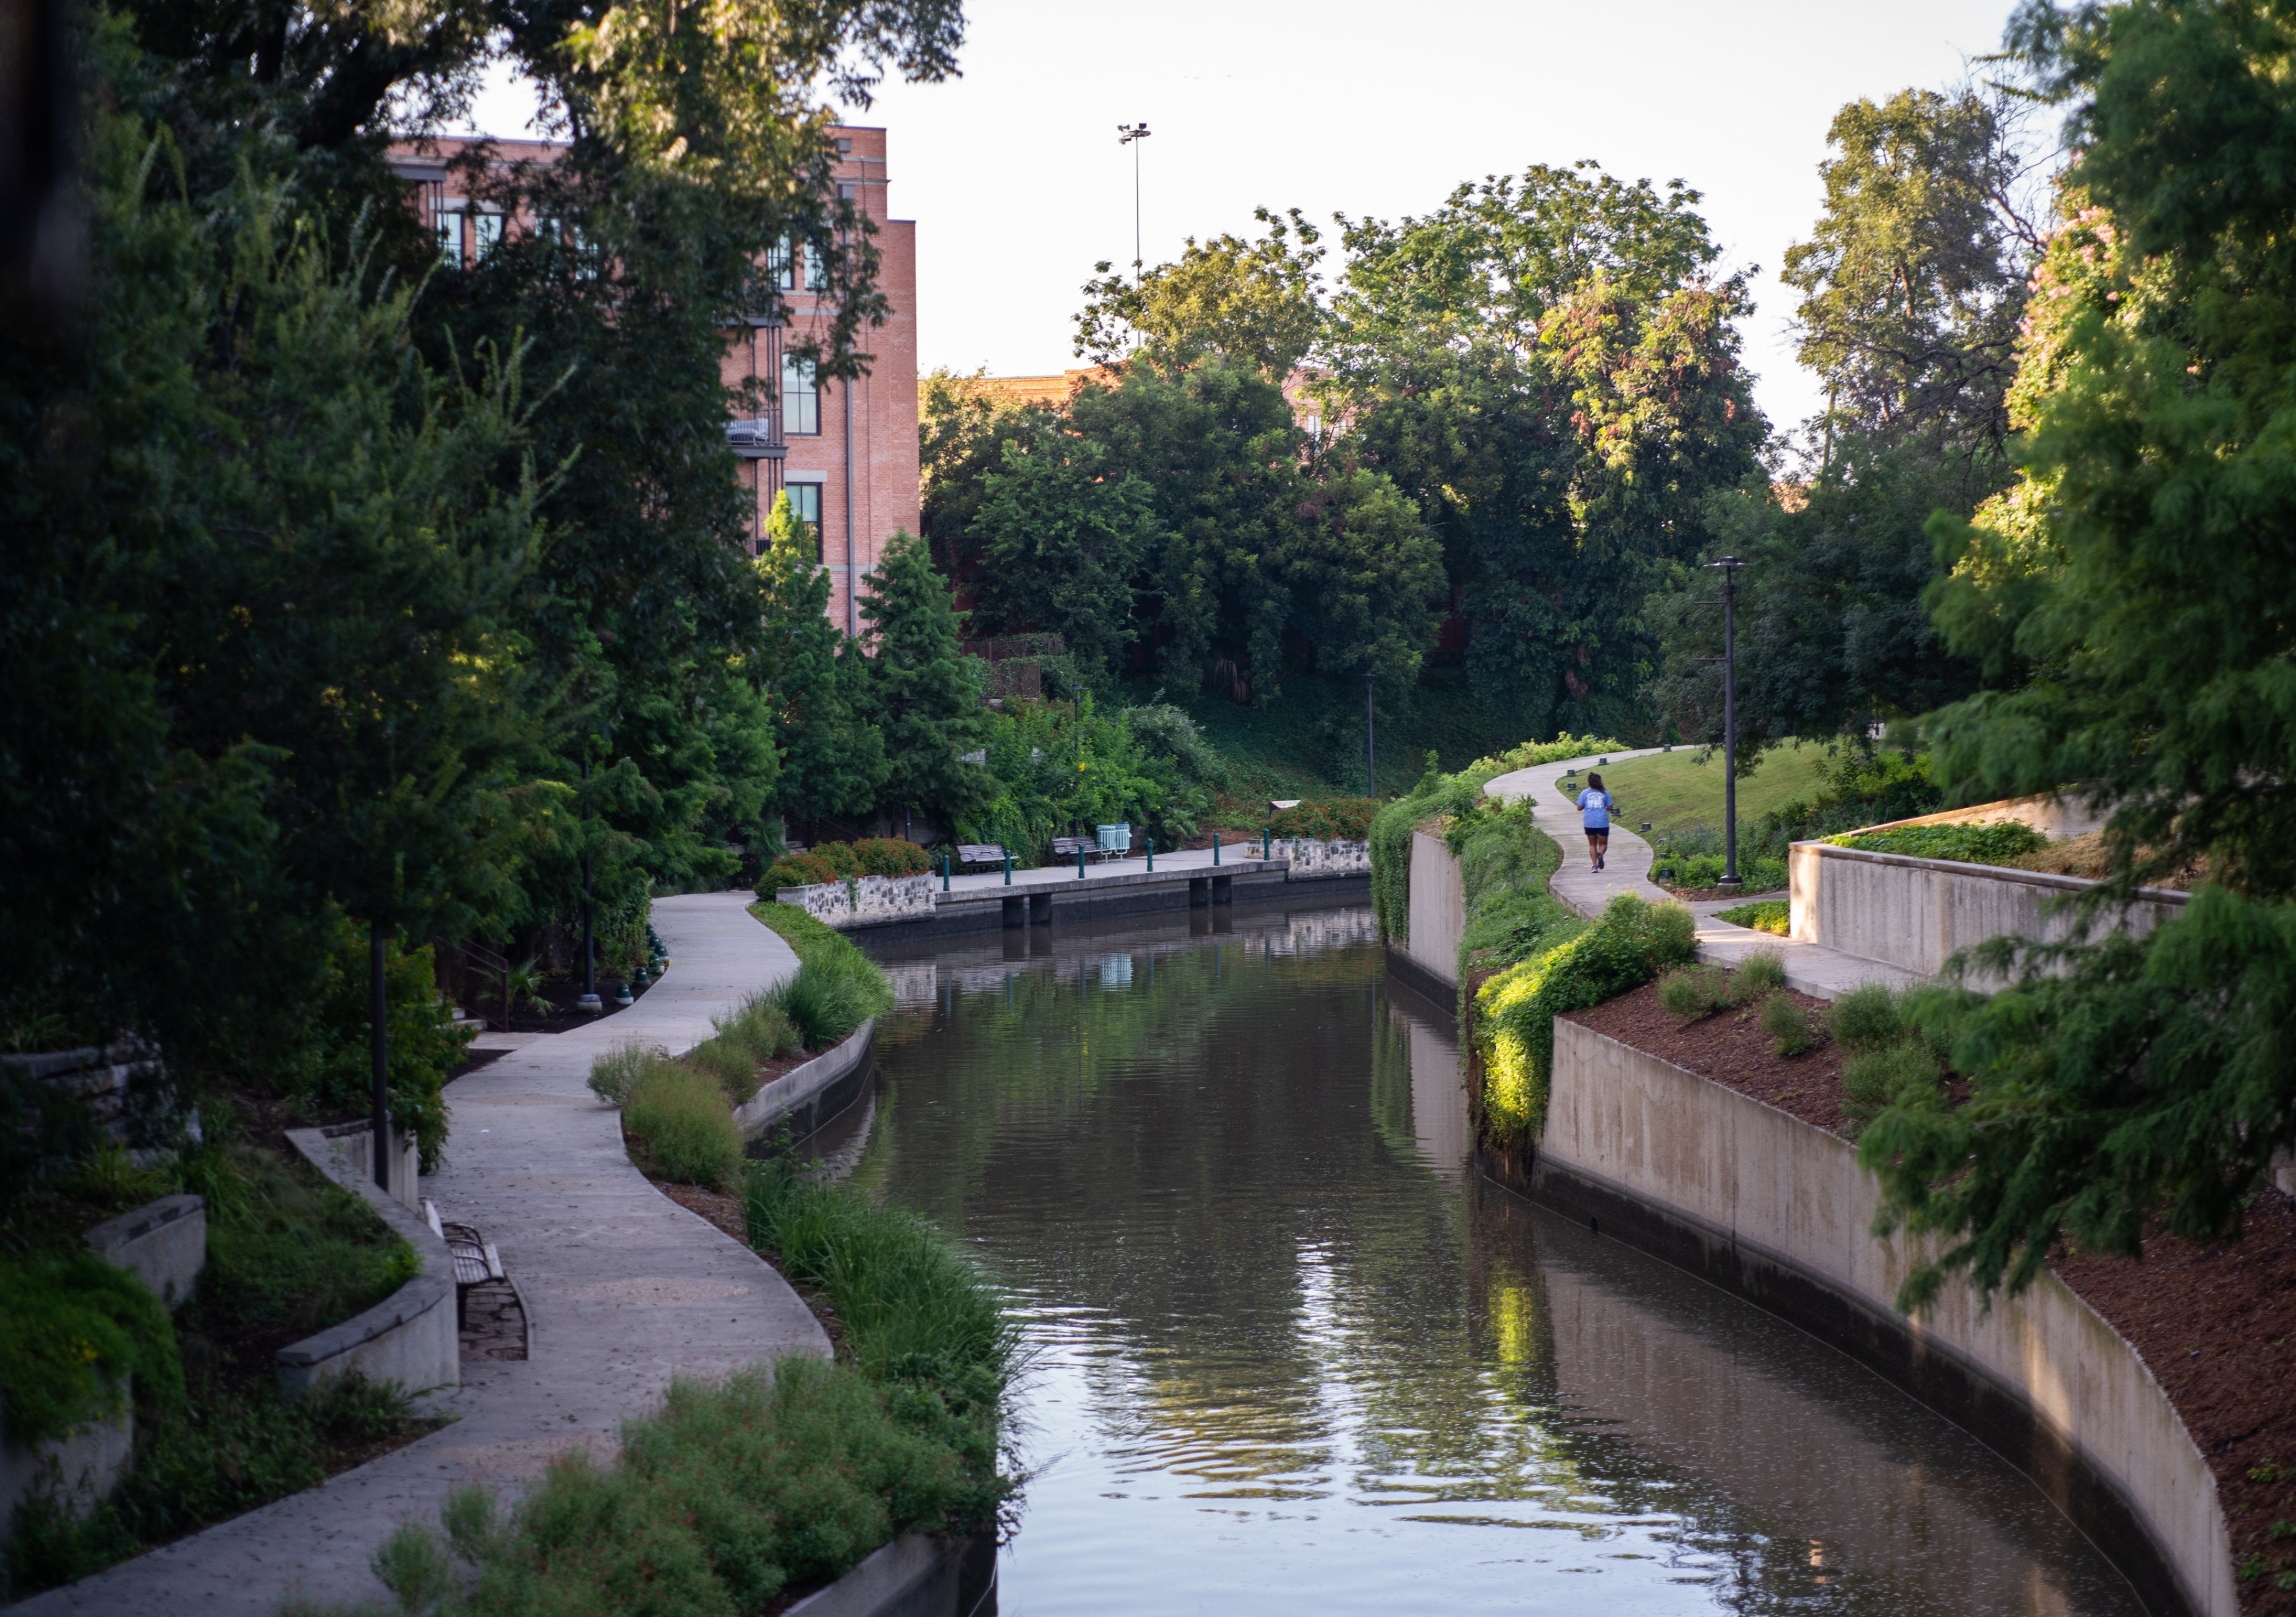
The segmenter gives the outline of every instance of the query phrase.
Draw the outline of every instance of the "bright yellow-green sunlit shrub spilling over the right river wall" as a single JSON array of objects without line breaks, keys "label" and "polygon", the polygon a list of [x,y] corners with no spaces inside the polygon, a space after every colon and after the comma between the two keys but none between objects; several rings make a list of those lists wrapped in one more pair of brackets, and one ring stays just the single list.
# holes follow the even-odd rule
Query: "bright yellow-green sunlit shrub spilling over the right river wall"
[{"label": "bright yellow-green sunlit shrub spilling over the right river wall", "polygon": [[1474,997],[1474,1038],[1486,1135],[1504,1144],[1545,1128],[1557,1015],[1639,988],[1694,951],[1697,923],[1688,910],[1621,896],[1570,942],[1483,983]]}]

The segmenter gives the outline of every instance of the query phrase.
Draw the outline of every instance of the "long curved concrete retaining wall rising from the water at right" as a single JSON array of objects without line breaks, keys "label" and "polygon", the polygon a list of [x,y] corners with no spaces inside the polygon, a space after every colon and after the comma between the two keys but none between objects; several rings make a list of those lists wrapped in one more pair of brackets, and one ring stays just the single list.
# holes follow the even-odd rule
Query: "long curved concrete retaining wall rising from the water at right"
[{"label": "long curved concrete retaining wall rising from the water at right", "polygon": [[1892,1307],[1903,1240],[1869,1236],[1855,1146],[1575,1022],[1554,1024],[1545,1137],[1492,1174],[1791,1318],[1977,1433],[2154,1612],[2236,1617],[2216,1479],[2144,1360],[2055,1275],[1981,1312]]}]

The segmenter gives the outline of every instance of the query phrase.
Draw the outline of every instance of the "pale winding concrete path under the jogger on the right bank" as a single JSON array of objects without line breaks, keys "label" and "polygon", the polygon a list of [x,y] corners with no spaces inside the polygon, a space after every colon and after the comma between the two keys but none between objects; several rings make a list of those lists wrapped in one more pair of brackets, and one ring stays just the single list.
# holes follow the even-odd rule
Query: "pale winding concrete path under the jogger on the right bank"
[{"label": "pale winding concrete path under the jogger on the right bank", "polygon": [[[1655,751],[1662,749],[1644,746],[1642,751],[1603,756],[1612,763],[1626,763],[1628,758],[1649,758]],[[1626,825],[1637,822],[1632,799],[1626,804],[1626,825],[1614,822],[1609,827],[1609,852],[1603,857],[1603,868],[1587,868],[1587,836],[1580,829],[1580,811],[1573,806],[1575,792],[1566,795],[1561,779],[1566,769],[1577,769],[1580,779],[1584,779],[1589,767],[1600,769],[1593,758],[1543,763],[1529,769],[1515,769],[1513,774],[1502,774],[1483,790],[1508,802],[1520,797],[1531,799],[1538,827],[1564,850],[1564,864],[1554,873],[1554,880],[1548,882],[1548,891],[1580,914],[1600,914],[1603,905],[1619,893],[1632,893],[1635,898],[1644,898],[1653,905],[1676,903],[1674,893],[1651,880],[1651,861],[1655,857],[1651,845],[1635,831],[1626,829]],[[1890,983],[1894,988],[1903,988],[1913,981],[1913,972],[1883,960],[1846,956],[1839,949],[1825,949],[1821,944],[1798,944],[1791,937],[1754,933],[1715,919],[1717,910],[1729,910],[1763,896],[1784,898],[1784,893],[1747,893],[1745,898],[1722,898],[1690,905],[1690,912],[1699,921],[1699,960],[1736,965],[1756,949],[1775,949],[1786,958],[1786,983],[1818,999],[1832,999],[1835,995],[1857,988],[1860,983]]]}]

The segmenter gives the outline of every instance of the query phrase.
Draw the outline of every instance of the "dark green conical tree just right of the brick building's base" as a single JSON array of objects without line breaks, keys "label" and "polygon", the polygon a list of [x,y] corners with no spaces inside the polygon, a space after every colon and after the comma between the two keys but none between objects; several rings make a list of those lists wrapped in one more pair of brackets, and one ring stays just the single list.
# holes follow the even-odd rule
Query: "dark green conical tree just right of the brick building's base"
[{"label": "dark green conical tree just right of the brick building's base", "polygon": [[891,813],[921,808],[941,827],[971,818],[992,795],[978,751],[980,698],[957,652],[957,606],[925,542],[895,533],[861,597],[868,618],[870,717],[884,733]]}]

